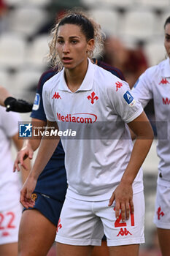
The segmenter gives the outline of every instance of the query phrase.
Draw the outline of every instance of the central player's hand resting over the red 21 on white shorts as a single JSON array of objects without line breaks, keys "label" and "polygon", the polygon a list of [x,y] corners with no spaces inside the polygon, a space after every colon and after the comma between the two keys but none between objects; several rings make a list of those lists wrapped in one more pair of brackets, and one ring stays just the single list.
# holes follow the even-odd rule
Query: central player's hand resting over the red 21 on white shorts
[{"label": "central player's hand resting over the red 21 on white shorts", "polygon": [[133,189],[130,184],[121,183],[117,186],[109,199],[109,206],[115,200],[115,216],[119,218],[120,210],[122,222],[129,219],[130,214],[134,214]]}]

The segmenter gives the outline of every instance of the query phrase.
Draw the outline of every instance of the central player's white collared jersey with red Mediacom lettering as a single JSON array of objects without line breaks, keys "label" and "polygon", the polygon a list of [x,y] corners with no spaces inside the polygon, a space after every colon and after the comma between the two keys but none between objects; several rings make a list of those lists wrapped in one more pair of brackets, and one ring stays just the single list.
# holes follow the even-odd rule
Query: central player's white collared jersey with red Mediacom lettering
[{"label": "central player's white collared jersey with red Mediacom lettering", "polygon": [[[131,157],[133,143],[125,123],[142,113],[142,105],[127,83],[90,61],[77,91],[69,90],[63,69],[45,83],[42,96],[47,120],[57,121],[61,131],[73,127],[77,132],[75,138],[61,138],[69,195],[108,199]],[[134,193],[142,189],[140,170]]]}]

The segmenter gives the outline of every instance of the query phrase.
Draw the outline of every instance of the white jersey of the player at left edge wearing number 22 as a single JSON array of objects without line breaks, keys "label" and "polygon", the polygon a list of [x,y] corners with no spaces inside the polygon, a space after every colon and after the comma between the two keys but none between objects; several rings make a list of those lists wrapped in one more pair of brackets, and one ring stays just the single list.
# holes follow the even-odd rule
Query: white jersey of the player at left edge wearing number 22
[{"label": "white jersey of the player at left edge wearing number 22", "polygon": [[11,137],[18,133],[18,113],[7,113],[0,106],[0,212],[19,204],[20,178],[12,173]]}]

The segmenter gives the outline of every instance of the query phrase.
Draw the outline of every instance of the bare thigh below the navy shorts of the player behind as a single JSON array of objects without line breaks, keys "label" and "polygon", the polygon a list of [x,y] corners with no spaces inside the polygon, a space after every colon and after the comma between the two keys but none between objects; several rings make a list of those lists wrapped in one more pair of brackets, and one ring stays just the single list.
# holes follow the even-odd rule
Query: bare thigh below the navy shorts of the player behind
[{"label": "bare thigh below the navy shorts of the player behind", "polygon": [[47,255],[55,234],[55,225],[39,211],[23,211],[18,240],[19,256]]}]

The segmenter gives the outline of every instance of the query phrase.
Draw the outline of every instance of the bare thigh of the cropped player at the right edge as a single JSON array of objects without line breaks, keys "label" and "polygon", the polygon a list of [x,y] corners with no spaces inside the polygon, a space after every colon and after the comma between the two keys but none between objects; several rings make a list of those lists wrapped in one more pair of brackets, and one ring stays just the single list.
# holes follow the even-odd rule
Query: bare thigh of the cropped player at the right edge
[{"label": "bare thigh of the cropped player at the right edge", "polygon": [[170,230],[158,228],[158,240],[163,256],[169,256]]}]

